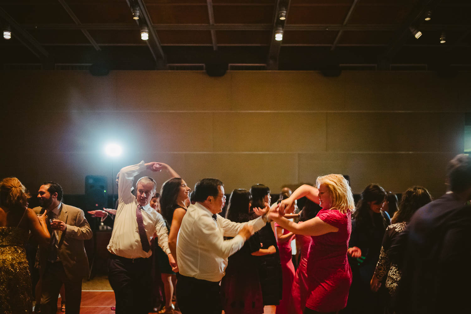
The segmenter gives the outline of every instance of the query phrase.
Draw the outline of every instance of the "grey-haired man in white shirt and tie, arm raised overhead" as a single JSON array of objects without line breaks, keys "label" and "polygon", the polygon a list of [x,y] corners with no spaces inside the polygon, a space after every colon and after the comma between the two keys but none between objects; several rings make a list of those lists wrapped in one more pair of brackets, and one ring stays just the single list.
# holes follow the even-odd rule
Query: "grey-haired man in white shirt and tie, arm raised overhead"
[{"label": "grey-haired man in white shirt and tie, arm raised overhead", "polygon": [[166,164],[141,161],[121,169],[118,184],[118,210],[108,260],[108,280],[114,290],[116,314],[147,314],[150,308],[151,260],[150,240],[157,233],[158,243],[168,254],[172,267],[176,266],[168,244],[168,230],[162,215],[150,205],[156,182],[142,177],[136,183],[137,196],[131,194],[134,177],[144,170],[167,170],[173,177],[178,174]]}]

